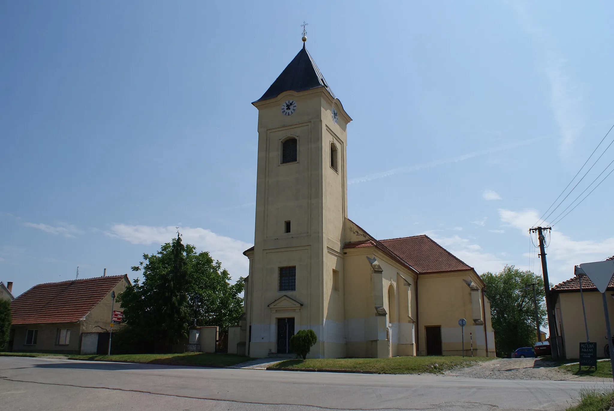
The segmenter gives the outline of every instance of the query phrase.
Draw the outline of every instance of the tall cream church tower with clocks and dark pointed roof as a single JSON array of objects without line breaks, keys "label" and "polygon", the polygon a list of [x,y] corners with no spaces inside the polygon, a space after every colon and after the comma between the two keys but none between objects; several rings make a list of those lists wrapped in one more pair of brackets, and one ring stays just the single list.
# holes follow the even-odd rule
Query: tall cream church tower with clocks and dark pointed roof
[{"label": "tall cream church tower with clocks and dark pointed roof", "polygon": [[254,248],[245,252],[247,354],[289,353],[289,338],[313,329],[318,342],[310,356],[345,356],[343,230],[351,118],[304,43],[252,104],[258,109],[258,167]]}]

